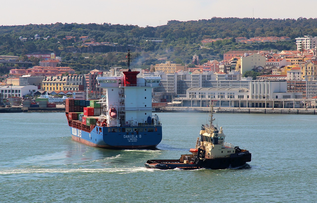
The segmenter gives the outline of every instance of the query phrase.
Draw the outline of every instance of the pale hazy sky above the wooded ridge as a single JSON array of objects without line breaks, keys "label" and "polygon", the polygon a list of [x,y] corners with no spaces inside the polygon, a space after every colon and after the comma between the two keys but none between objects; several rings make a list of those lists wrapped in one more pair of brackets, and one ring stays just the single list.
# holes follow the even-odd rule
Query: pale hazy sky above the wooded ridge
[{"label": "pale hazy sky above the wooded ridge", "polygon": [[317,1],[259,0],[16,0],[1,2],[0,25],[62,23],[165,25],[212,17],[315,18]]}]

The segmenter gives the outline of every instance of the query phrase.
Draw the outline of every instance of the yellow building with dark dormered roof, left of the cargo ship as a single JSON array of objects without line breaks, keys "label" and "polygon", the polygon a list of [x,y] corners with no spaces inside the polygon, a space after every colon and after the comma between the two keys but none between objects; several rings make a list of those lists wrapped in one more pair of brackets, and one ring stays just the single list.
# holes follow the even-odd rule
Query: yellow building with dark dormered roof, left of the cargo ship
[{"label": "yellow building with dark dormered roof, left of the cargo ship", "polygon": [[42,82],[42,87],[45,91],[62,91],[66,83],[67,76],[47,76]]}]

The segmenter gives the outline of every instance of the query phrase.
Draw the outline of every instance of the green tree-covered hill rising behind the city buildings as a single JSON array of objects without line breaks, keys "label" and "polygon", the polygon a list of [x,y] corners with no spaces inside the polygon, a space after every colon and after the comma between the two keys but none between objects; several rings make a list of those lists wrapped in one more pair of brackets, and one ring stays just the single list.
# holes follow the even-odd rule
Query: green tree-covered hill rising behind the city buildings
[{"label": "green tree-covered hill rising behind the city buildings", "polygon": [[[48,37],[35,40],[34,35]],[[303,35],[317,36],[317,18],[306,19],[255,19],[255,18],[211,18],[199,21],[169,21],[167,25],[145,28],[134,25],[111,25],[104,24],[47,24],[47,25],[18,25],[0,26],[0,55],[23,56],[31,53],[51,53],[57,56],[65,56],[71,52],[70,60],[79,63],[86,63],[86,68],[93,66],[107,67],[107,64],[121,63],[124,58],[114,57],[110,63],[104,60],[102,64],[96,64],[98,52],[99,57],[106,57],[112,52],[124,52],[130,46],[136,56],[142,56],[140,65],[150,65],[162,62],[159,60],[180,59],[183,63],[189,63],[193,54],[199,55],[202,59],[221,59],[224,51],[243,49],[296,49],[295,38]],[[29,38],[22,42],[18,38]],[[66,36],[74,36],[71,40]],[[88,47],[81,46],[79,37],[88,36],[95,42],[118,43],[113,47]],[[287,36],[292,39],[289,42],[278,43],[256,43],[251,45],[238,44],[234,40],[222,40],[214,45],[201,48],[200,41],[206,38],[235,38],[235,37],[256,37],[256,36]],[[146,40],[163,40],[162,43],[155,43]],[[76,53],[76,54],[74,54]],[[69,55],[69,54],[68,54]],[[124,57],[124,54],[120,56]],[[91,56],[90,60],[87,57]],[[75,57],[75,58],[73,58]],[[86,61],[80,61],[80,57],[86,57]],[[66,60],[64,65],[75,66],[76,63]],[[80,69],[80,68],[78,68]]]}]

